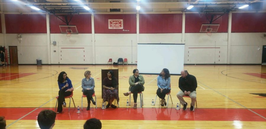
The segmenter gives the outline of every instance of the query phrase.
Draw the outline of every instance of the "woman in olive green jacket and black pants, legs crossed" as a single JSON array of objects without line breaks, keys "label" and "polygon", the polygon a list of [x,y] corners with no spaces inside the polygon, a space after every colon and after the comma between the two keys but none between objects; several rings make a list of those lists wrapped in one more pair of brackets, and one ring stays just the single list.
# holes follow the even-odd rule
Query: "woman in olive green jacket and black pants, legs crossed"
[{"label": "woman in olive green jacket and black pants, legs crossed", "polygon": [[129,92],[123,93],[125,96],[128,96],[129,94],[133,93],[134,109],[137,109],[138,92],[144,91],[144,83],[144,78],[142,75],[139,75],[139,70],[134,69],[133,75],[129,77]]}]

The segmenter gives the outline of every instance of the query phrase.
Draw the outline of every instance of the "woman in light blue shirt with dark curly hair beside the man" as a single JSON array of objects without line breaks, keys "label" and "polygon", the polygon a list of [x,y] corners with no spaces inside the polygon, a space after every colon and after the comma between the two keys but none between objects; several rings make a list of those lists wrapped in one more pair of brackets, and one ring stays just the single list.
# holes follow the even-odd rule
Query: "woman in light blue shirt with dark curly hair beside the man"
[{"label": "woman in light blue shirt with dark curly hair beside the man", "polygon": [[165,95],[170,92],[170,73],[167,68],[164,68],[157,77],[157,92],[159,98],[161,98],[161,106],[166,105]]}]

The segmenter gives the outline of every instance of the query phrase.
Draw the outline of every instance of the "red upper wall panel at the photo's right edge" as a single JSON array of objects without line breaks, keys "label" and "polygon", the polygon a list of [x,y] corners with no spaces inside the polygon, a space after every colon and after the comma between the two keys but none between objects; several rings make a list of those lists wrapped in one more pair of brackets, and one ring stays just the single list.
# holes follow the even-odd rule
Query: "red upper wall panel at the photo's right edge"
[{"label": "red upper wall panel at the photo's right edge", "polygon": [[232,13],[232,32],[266,32],[266,13]]}]

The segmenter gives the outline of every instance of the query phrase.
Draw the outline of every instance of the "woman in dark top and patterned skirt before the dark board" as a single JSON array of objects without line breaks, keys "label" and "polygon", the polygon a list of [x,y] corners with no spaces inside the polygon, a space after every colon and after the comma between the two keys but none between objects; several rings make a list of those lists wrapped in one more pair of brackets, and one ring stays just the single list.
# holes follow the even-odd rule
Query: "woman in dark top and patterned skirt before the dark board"
[{"label": "woman in dark top and patterned skirt before the dark board", "polygon": [[116,77],[113,75],[113,71],[110,70],[107,73],[107,77],[103,79],[103,102],[108,102],[106,108],[109,106],[116,108],[115,105],[112,104],[113,100],[116,99],[117,104],[119,102],[118,97],[118,81]]}]

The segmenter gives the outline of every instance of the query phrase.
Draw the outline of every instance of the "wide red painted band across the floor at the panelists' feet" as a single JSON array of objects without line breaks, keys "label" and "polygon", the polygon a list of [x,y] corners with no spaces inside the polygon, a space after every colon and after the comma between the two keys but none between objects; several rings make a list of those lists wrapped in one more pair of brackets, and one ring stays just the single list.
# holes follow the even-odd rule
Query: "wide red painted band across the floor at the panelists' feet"
[{"label": "wide red painted band across the floor at the panelists' feet", "polygon": [[[35,108],[0,108],[0,114],[7,120],[17,120]],[[39,108],[22,120],[37,120],[41,110],[54,108]],[[252,109],[254,112],[266,117],[266,109]],[[264,118],[254,114],[247,109],[195,109],[175,110],[174,108],[91,108],[86,111],[83,108],[81,113],[76,113],[77,108],[64,108],[61,114],[57,115],[57,120],[87,120],[98,118],[100,120],[197,120],[197,121],[266,121]]]}]

